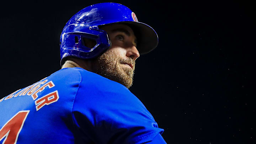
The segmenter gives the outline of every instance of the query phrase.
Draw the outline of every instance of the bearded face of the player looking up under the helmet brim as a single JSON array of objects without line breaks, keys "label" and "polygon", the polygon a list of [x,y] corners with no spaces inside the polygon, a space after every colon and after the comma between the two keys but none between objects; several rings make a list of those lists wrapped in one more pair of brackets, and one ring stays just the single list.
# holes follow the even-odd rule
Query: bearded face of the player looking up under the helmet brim
[{"label": "bearded face of the player looking up under the helmet brim", "polygon": [[101,27],[108,33],[111,47],[98,58],[96,73],[129,88],[132,86],[135,60],[139,57],[133,30],[123,24]]}]

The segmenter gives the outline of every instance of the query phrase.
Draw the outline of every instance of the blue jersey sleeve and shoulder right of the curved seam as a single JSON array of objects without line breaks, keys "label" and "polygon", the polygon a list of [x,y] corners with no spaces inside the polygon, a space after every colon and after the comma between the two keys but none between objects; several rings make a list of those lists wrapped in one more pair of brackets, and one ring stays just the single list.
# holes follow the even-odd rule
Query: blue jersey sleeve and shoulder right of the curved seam
[{"label": "blue jersey sleeve and shoulder right of the curved seam", "polygon": [[94,142],[144,143],[164,131],[125,86],[89,71],[76,70],[82,80],[74,100],[74,123]]}]

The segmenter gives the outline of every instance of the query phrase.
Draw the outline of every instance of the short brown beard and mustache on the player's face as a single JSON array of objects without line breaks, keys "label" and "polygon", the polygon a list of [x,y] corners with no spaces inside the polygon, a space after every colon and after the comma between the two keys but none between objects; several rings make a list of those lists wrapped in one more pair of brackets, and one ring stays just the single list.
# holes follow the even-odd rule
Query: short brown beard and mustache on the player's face
[{"label": "short brown beard and mustache on the player's face", "polygon": [[[124,63],[133,64],[133,69],[128,66],[123,66],[122,64]],[[98,58],[98,64],[99,68],[96,70],[96,74],[116,81],[126,86],[128,89],[132,86],[135,68],[135,60],[132,58],[115,60],[113,54],[107,51]]]}]

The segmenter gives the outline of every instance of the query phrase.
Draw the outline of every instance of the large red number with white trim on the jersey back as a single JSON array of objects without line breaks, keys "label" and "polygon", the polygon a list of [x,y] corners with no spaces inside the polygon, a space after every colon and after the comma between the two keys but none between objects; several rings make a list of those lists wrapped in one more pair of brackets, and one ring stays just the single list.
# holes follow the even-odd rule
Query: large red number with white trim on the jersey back
[{"label": "large red number with white trim on the jersey back", "polygon": [[0,129],[0,141],[4,139],[3,144],[16,144],[18,135],[30,111],[19,111]]}]

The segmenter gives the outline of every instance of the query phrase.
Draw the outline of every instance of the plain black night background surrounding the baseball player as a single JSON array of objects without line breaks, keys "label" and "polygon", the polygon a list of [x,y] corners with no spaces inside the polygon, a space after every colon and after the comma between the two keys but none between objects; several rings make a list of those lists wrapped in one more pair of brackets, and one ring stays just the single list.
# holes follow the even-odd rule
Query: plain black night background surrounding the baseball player
[{"label": "plain black night background surrounding the baseball player", "polygon": [[[0,6],[4,97],[60,69],[59,37],[82,8],[109,1]],[[251,1],[124,1],[159,45],[136,61],[130,88],[168,144],[254,144],[255,5]]]}]

